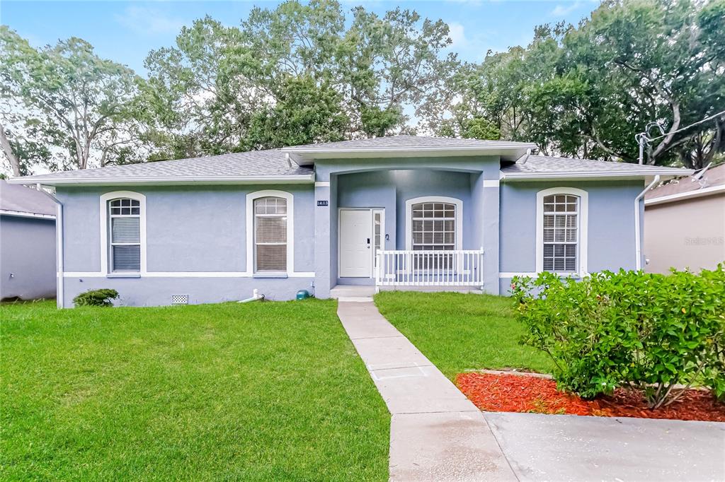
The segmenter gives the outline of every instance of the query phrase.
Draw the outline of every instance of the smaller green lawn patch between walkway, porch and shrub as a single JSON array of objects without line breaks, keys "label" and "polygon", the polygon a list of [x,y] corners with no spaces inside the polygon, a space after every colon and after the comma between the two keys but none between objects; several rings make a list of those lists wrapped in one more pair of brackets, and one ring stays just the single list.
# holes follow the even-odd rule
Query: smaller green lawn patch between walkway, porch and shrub
[{"label": "smaller green lawn patch between walkway, porch and shrub", "polygon": [[460,293],[380,292],[378,309],[450,379],[481,368],[548,372],[547,355],[518,343],[513,300]]}]

